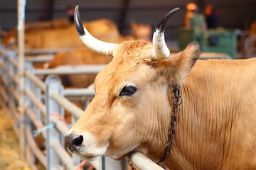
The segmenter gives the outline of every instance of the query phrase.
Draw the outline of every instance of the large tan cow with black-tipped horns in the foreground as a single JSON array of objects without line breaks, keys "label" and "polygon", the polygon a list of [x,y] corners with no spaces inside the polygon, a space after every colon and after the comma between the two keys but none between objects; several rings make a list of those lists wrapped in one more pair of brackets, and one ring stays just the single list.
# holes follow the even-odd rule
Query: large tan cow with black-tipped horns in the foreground
[{"label": "large tan cow with black-tipped horns in the foreground", "polygon": [[159,162],[179,84],[183,103],[166,166],[256,169],[256,59],[196,61],[196,43],[169,57],[164,26],[175,11],[156,26],[153,43],[111,44],[83,28],[76,8],[81,40],[113,60],[97,75],[95,97],[65,137],[68,149],[87,160],[122,159],[137,150]]}]

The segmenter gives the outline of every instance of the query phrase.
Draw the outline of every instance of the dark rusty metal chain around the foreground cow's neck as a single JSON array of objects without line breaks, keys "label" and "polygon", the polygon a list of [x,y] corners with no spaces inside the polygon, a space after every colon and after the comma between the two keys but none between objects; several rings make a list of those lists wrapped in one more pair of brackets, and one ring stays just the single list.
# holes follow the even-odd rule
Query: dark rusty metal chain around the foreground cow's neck
[{"label": "dark rusty metal chain around the foreground cow's neck", "polygon": [[166,148],[164,149],[164,154],[162,155],[161,159],[157,164],[160,162],[164,162],[166,157],[169,155],[172,149],[172,144],[174,142],[174,135],[175,135],[175,128],[177,123],[177,112],[178,112],[178,106],[182,103],[182,97],[181,97],[181,86],[177,85],[174,87],[174,105],[173,105],[173,115],[171,115],[171,128],[169,130],[169,136],[168,136],[168,144]]}]

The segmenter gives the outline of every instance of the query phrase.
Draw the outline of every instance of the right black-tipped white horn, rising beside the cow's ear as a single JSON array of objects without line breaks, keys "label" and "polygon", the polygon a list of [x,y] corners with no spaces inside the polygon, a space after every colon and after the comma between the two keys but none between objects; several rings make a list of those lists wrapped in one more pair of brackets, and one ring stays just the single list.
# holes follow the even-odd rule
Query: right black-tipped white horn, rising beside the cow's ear
[{"label": "right black-tipped white horn, rising beside the cow's ear", "polygon": [[159,23],[156,25],[156,28],[154,29],[153,34],[153,57],[156,60],[164,60],[169,57],[170,50],[166,45],[166,42],[164,40],[164,28],[166,26],[167,21],[169,18],[178,11],[179,8],[174,8],[173,10],[169,11],[169,13],[166,14]]}]

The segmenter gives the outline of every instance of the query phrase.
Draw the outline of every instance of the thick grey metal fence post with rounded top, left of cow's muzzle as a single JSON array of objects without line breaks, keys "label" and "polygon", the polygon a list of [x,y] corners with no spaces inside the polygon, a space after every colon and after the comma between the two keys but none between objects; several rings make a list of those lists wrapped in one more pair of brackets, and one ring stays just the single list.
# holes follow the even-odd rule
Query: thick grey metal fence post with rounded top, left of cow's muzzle
[{"label": "thick grey metal fence post with rounded top, left of cow's muzzle", "polygon": [[60,165],[60,158],[51,147],[53,141],[60,142],[60,133],[50,125],[54,125],[53,122],[50,122],[50,117],[55,113],[60,113],[61,107],[58,105],[53,98],[50,97],[50,94],[55,92],[58,94],[62,93],[63,87],[61,86],[61,81],[58,77],[50,75],[46,78],[46,123],[48,126],[47,137],[46,137],[46,149],[47,149],[47,169],[58,169]]}]

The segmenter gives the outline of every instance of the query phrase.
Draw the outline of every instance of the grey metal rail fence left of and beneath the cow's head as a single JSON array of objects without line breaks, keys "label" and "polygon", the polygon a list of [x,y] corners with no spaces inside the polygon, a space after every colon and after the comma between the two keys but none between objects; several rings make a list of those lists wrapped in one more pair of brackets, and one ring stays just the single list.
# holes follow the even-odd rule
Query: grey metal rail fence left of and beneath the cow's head
[{"label": "grey metal rail fence left of and beneath the cow's head", "polygon": [[[36,162],[41,162],[46,169],[75,169],[81,160],[75,154],[66,152],[63,137],[83,111],[68,98],[82,97],[85,103],[89,103],[95,92],[90,87],[64,89],[60,79],[53,74],[97,74],[104,66],[34,69],[33,62],[46,61],[45,57],[36,57],[27,58],[24,74],[18,75],[16,52],[4,48],[0,50],[0,97],[16,119],[14,130],[31,169],[38,169]],[[47,76],[46,81],[37,75]],[[24,77],[24,89],[19,88],[20,77]],[[24,98],[22,108],[18,108],[20,94]],[[65,122],[64,110],[72,115],[71,125]],[[46,151],[36,144],[37,137],[45,140]],[[129,153],[127,159],[139,169],[162,169],[139,152]],[[127,169],[126,161],[117,162],[107,157],[90,163],[95,169]]]}]

